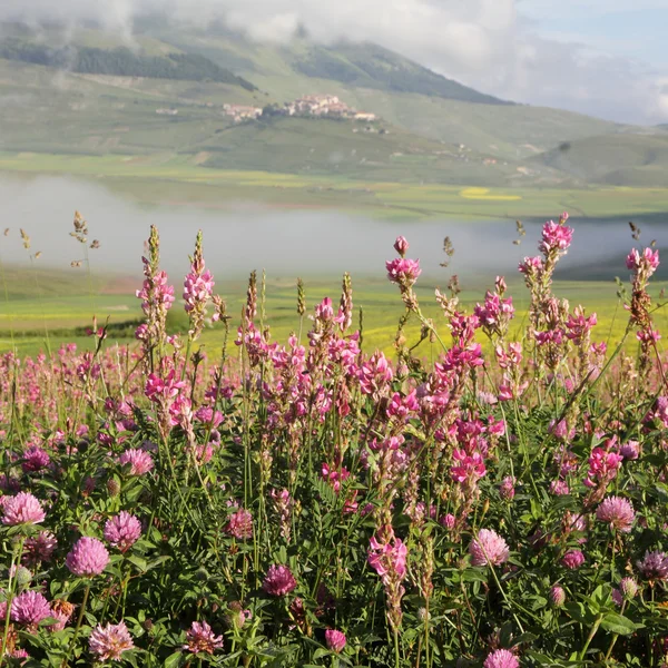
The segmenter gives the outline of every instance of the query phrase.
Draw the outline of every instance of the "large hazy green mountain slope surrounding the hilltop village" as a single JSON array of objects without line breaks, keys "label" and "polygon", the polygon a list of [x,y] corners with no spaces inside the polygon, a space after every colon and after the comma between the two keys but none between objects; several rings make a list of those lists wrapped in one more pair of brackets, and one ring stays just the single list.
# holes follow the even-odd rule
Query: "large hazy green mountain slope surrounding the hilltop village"
[{"label": "large hazy green mountain slope surrounding the hilltop village", "polygon": [[[376,45],[304,35],[258,43],[224,26],[155,20],[135,28],[128,38],[0,24],[0,150],[159,154],[198,167],[410,183],[665,183],[660,128],[507,102]],[[336,96],[379,120],[236,122],[229,112],[256,116],[305,95]]]}]

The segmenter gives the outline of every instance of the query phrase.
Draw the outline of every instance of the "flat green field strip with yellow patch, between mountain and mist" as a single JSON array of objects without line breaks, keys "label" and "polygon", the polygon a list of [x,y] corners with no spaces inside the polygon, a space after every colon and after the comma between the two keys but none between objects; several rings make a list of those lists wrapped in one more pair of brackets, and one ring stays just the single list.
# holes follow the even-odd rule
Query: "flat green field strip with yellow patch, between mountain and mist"
[{"label": "flat green field strip with yellow patch, between mountain and mist", "polygon": [[591,187],[480,188],[343,176],[214,169],[190,156],[88,156],[0,153],[0,173],[30,178],[72,175],[137,202],[226,208],[239,202],[278,208],[338,208],[379,218],[544,218],[563,209],[580,218],[668,212],[668,189]]}]

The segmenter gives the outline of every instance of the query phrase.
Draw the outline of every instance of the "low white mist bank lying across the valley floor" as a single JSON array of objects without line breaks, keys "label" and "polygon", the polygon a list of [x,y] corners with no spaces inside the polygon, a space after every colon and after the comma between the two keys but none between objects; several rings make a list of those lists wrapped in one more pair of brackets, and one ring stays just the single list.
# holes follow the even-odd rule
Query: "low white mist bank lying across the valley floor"
[{"label": "low white mist bank lying across the valley floor", "polygon": [[[19,227],[32,239],[31,253],[42,252],[45,266],[68,267],[80,259],[80,246],[69,236],[75,209],[89,223],[89,239],[101,247],[90,250],[94,271],[140,275],[140,255],[149,226],[161,237],[163,265],[178,276],[187,271],[197,229],[204,232],[205,258],[218,281],[236,278],[265,268],[274,277],[297,275],[353,275],[382,278],[384,261],[392,257],[399,234],[411,243],[425,278],[445,283],[452,273],[462,278],[489,281],[498,273],[517,275],[525,255],[537,254],[542,220],[524,220],[527,235],[520,245],[512,219],[396,222],[373,219],[334,209],[276,209],[239,202],[225,210],[196,205],[146,206],[114,194],[102,185],[70,177],[31,179],[0,177],[0,219],[10,227],[2,238],[6,263],[28,263]],[[553,215],[557,215],[554,212]],[[581,219],[572,215],[574,243],[560,265],[560,278],[626,276],[625,257],[633,245],[657,239],[661,247],[665,227],[660,216],[641,225],[641,242],[633,242],[627,220]],[[606,244],[600,243],[606,225]],[[443,268],[443,238],[455,248]]]}]

